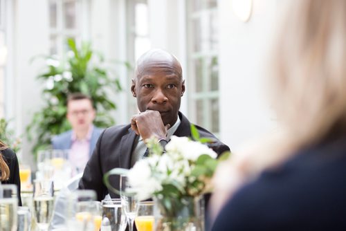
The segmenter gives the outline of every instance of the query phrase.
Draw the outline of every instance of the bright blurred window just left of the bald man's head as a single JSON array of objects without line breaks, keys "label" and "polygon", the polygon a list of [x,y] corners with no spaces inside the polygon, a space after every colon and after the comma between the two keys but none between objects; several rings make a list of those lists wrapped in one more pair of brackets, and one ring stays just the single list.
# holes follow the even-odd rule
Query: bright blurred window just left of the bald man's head
[{"label": "bright blurred window just left of the bald man's head", "polygon": [[[149,15],[147,0],[127,1],[127,60],[135,66],[136,60],[151,47],[149,39]],[[129,71],[127,86],[131,86],[134,71]],[[136,99],[129,92],[128,115],[138,112]]]}]

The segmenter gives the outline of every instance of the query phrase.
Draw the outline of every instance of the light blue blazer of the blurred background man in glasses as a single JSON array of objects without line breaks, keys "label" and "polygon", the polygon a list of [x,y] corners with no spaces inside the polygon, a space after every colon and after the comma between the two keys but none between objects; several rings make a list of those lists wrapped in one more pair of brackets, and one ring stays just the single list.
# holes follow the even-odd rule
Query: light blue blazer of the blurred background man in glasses
[{"label": "light blue blazer of the blurred background man in glasses", "polygon": [[[93,127],[93,132],[91,133],[90,138],[90,148],[89,148],[89,157],[93,154],[93,149],[95,148],[98,137],[102,133],[103,129],[98,127]],[[65,131],[57,136],[54,136],[51,140],[53,149],[71,149],[71,136],[72,130]]]}]

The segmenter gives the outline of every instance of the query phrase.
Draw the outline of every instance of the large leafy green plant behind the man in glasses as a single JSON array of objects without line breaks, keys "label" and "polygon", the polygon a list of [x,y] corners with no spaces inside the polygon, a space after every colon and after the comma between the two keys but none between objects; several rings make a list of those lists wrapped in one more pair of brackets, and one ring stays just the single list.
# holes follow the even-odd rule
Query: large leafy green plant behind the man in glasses
[{"label": "large leafy green plant behind the man in glasses", "polygon": [[[29,140],[35,134],[33,154],[49,147],[53,135],[71,129],[66,120],[69,93],[80,92],[91,97],[97,110],[95,126],[109,127],[115,123],[110,112],[116,109],[116,104],[109,98],[109,92],[121,91],[116,73],[107,68],[104,57],[95,53],[90,43],[84,42],[77,47],[73,39],[68,39],[67,44],[69,51],[65,58],[46,56],[44,72],[37,76],[45,84],[42,92],[45,105],[34,113],[26,129]],[[129,67],[126,62],[124,64]]]}]

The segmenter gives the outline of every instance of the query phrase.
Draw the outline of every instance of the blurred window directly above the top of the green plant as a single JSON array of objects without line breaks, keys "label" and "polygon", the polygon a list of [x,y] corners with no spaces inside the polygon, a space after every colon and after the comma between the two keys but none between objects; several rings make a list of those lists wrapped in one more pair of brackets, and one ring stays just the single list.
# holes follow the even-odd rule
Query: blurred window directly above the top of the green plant
[{"label": "blurred window directly above the top of the green plant", "polygon": [[49,0],[50,54],[62,56],[67,38],[79,42],[82,37],[83,0]]}]

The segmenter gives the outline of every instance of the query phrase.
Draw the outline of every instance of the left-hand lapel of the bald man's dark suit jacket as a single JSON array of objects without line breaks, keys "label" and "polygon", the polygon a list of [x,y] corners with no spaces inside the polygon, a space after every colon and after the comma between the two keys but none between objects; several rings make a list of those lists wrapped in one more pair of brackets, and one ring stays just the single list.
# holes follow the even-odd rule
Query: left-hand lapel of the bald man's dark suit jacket
[{"label": "left-hand lapel of the bald man's dark suit jacket", "polygon": [[[134,140],[136,139],[136,133],[129,128],[129,132],[122,136],[120,141],[120,153],[119,158],[119,167],[129,169],[131,167],[131,156],[132,148],[134,146]],[[130,148],[129,148],[130,147]]]}]

